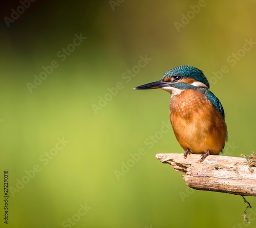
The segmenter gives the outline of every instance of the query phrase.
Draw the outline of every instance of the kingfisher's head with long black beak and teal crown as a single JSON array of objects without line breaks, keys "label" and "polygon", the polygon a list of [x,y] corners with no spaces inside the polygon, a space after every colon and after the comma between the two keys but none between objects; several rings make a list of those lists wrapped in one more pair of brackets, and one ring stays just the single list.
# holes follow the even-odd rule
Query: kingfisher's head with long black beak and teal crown
[{"label": "kingfisher's head with long black beak and teal crown", "polygon": [[209,89],[210,85],[203,72],[194,66],[176,66],[167,71],[160,81],[140,85],[135,89],[162,88],[172,95],[180,94],[185,89]]}]

